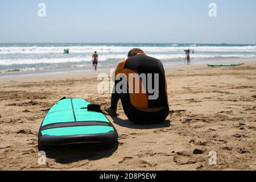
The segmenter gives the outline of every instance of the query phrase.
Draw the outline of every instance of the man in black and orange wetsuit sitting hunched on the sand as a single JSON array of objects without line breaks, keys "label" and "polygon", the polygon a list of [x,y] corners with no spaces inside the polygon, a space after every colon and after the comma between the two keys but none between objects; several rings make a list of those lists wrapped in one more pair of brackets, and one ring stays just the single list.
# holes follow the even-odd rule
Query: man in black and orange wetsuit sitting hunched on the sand
[{"label": "man in black and orange wetsuit sitting hunched on the sand", "polygon": [[[124,78],[123,76],[120,78],[121,75],[124,75],[126,80],[121,79]],[[134,81],[136,78],[140,83],[138,92],[134,92],[134,88],[137,89]],[[120,84],[123,81],[125,84]],[[125,85],[126,88],[122,90],[127,92],[117,92],[119,85]],[[153,88],[158,93],[152,93]],[[161,61],[147,56],[141,49],[131,49],[128,59],[122,60],[115,69],[111,107],[105,109],[112,117],[117,116],[119,100],[127,118],[132,122],[150,124],[165,121],[169,113],[169,105],[166,77]]]}]

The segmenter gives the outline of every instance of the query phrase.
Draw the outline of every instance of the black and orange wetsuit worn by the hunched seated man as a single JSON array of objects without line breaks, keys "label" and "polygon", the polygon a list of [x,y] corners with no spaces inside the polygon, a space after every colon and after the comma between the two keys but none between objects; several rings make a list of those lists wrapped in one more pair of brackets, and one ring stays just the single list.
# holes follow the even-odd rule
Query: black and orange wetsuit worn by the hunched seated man
[{"label": "black and orange wetsuit worn by the hunched seated man", "polygon": [[[147,76],[147,79],[148,74],[158,74],[159,94],[158,98],[151,100],[149,99],[149,96],[152,96],[152,94],[148,92],[147,88],[145,89],[146,93],[129,93],[128,79],[126,88],[127,93],[112,93],[111,108],[116,110],[117,103],[119,100],[121,100],[123,110],[125,111],[125,114],[130,121],[144,124],[160,123],[165,121],[169,113],[169,105],[166,77],[161,61],[155,59],[154,57],[149,57],[146,55],[133,56],[129,59],[122,60],[118,64],[117,69],[115,70],[115,77],[119,73],[126,75],[127,78],[129,78],[129,74],[138,73],[138,75],[141,75],[142,73],[144,73]],[[152,80],[154,80],[154,78]],[[118,82],[118,80],[115,81],[115,86],[118,84]],[[154,81],[152,85],[152,87],[154,88],[156,85]]]}]

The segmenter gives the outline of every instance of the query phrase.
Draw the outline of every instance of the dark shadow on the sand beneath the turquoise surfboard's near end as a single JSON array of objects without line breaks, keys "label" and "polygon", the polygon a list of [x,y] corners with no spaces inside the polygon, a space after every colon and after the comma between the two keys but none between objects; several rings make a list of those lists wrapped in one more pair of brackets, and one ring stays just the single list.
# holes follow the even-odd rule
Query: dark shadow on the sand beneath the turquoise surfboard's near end
[{"label": "dark shadow on the sand beneath the turquoise surfboard's near end", "polygon": [[55,159],[57,163],[69,164],[80,160],[98,160],[108,158],[118,148],[118,143],[90,143],[71,144],[66,146],[39,147],[39,151],[45,151],[49,159]]}]

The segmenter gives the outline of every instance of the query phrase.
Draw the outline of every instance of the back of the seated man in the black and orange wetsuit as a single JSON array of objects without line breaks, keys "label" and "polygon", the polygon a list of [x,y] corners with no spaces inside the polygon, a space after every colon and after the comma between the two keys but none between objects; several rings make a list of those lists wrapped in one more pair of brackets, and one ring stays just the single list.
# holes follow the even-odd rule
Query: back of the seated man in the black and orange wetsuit
[{"label": "back of the seated man in the black and orange wetsuit", "polygon": [[[143,89],[140,92],[130,93],[131,104],[137,108],[160,108],[168,105],[167,86],[163,64],[160,60],[146,55],[137,55],[123,60],[119,63],[115,75],[125,73],[127,77],[128,88],[134,85],[129,85],[129,74],[138,73],[141,80],[140,85]],[[146,81],[143,78],[146,77]],[[146,91],[146,93],[142,92]],[[135,90],[133,90],[135,91]],[[152,93],[154,91],[154,93]]]}]

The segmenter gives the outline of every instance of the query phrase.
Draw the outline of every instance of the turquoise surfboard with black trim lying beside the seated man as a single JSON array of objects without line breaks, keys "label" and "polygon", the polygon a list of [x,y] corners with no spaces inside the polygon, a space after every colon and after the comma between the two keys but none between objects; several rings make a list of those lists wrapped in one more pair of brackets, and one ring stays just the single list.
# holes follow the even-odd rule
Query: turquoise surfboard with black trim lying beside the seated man
[{"label": "turquoise surfboard with black trim lying beside the seated man", "polygon": [[39,146],[117,142],[118,134],[100,110],[81,98],[63,98],[48,111],[39,129]]}]

